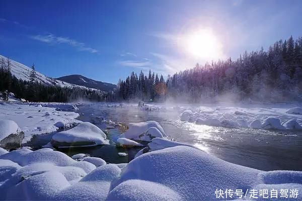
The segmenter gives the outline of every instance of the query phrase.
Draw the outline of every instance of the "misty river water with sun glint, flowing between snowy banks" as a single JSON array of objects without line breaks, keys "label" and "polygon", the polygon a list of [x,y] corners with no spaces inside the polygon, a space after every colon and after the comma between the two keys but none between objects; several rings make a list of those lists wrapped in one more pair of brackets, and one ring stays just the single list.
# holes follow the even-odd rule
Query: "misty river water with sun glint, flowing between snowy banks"
[{"label": "misty river water with sun glint, flowing between snowy banks", "polygon": [[[302,170],[302,132],[229,129],[196,125],[179,121],[180,112],[176,110],[146,112],[135,106],[111,108],[106,104],[84,104],[78,108],[79,120],[91,122],[102,130],[110,126],[108,123],[102,122],[103,119],[123,124],[154,120],[162,125],[170,138],[195,145],[225,161],[261,170]],[[101,157],[109,163],[126,163],[132,160],[141,148],[116,148],[114,142],[121,131],[118,128],[107,130],[109,130],[107,138],[111,145],[59,151],[70,156],[77,153],[88,153],[91,156]],[[48,138],[49,136],[51,134],[48,135]],[[118,152],[126,152],[128,156],[121,157],[117,154]]]}]

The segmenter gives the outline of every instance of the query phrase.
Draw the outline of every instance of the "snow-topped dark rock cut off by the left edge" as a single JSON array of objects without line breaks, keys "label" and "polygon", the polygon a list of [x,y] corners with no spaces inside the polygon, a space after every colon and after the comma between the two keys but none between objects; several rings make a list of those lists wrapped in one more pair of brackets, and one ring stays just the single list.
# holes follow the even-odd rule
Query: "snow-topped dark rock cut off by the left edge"
[{"label": "snow-topped dark rock cut off by the left edge", "polygon": [[21,147],[24,133],[16,122],[12,120],[0,120],[0,147],[6,149]]}]

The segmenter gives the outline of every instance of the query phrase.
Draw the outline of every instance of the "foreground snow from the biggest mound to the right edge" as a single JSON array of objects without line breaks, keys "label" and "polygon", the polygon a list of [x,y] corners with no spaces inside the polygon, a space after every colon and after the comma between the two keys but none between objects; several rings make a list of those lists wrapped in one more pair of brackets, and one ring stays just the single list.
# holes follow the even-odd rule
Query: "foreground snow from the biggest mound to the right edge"
[{"label": "foreground snow from the biggest mound to the right edge", "polygon": [[132,160],[112,183],[107,199],[148,200],[158,196],[160,200],[215,200],[216,189],[245,192],[261,185],[275,189],[294,186],[300,191],[301,175],[297,171],[265,172],[223,161],[192,147],[176,146]]}]

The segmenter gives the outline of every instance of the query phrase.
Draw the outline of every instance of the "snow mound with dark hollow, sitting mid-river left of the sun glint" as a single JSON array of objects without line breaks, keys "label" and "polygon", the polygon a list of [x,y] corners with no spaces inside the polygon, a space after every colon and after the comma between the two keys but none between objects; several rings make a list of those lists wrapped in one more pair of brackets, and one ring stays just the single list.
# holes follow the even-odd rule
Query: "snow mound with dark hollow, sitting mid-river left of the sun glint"
[{"label": "snow mound with dark hollow, sitting mid-river left of the sun glint", "polygon": [[[158,129],[159,132],[156,131],[155,129],[148,131],[148,129],[152,128],[152,127]],[[147,131],[148,131],[148,134],[150,134],[152,136],[146,136],[146,135],[148,135],[148,134],[145,134]],[[160,135],[159,133],[161,133],[162,135]],[[155,135],[155,136],[153,136],[153,135]],[[142,136],[142,139],[144,139],[146,141],[149,141],[150,137],[157,137],[157,136],[167,137],[162,126],[156,121],[130,123],[129,129],[121,135],[122,138],[127,138],[130,140],[142,140],[140,138],[140,136]]]}]

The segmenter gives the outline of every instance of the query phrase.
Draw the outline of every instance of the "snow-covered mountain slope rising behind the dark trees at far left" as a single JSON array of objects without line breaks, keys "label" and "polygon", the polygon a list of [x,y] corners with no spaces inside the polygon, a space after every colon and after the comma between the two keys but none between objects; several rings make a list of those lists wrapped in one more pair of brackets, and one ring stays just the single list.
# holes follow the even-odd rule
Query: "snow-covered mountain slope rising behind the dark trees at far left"
[{"label": "snow-covered mountain slope rising behind the dark trees at far left", "polygon": [[[5,61],[7,61],[7,57],[0,55],[0,59],[2,59],[2,58]],[[10,61],[11,61],[11,73],[13,75],[15,75],[18,79],[29,81],[31,68],[22,63],[14,61],[12,59],[10,59]],[[38,71],[36,71],[35,79],[36,79],[36,81],[38,81],[40,83],[49,84],[49,85],[57,85],[57,86],[61,86],[61,87],[82,87],[82,88],[87,88],[87,89],[89,88],[89,87],[80,86],[80,85],[64,82],[61,80],[53,79],[51,77],[47,77],[47,76],[43,75],[42,73],[40,73]]]}]

